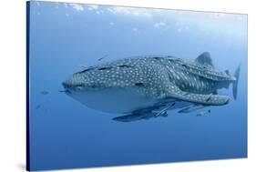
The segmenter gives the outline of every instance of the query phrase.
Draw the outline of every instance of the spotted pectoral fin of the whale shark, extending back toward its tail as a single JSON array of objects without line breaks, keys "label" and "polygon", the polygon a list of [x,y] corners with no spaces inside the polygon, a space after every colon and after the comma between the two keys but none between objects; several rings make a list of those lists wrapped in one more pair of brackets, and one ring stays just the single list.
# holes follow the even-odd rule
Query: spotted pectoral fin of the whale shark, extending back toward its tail
[{"label": "spotted pectoral fin of the whale shark, extending back toward its tail", "polygon": [[178,98],[179,100],[188,101],[192,103],[207,105],[207,106],[221,106],[229,103],[230,96],[222,95],[201,95],[195,93],[184,92],[177,86],[171,86],[169,97]]}]

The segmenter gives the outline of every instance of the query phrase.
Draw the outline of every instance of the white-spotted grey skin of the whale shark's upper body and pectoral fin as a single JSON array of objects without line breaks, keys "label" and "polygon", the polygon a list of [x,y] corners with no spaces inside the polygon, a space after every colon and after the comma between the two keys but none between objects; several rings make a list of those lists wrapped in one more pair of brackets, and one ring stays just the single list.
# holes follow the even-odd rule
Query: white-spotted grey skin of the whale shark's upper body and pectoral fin
[{"label": "white-spotted grey skin of the whale shark's upper body and pectoral fin", "polygon": [[213,93],[235,80],[207,63],[173,56],[134,56],[88,67],[69,77],[63,86],[77,91],[136,87],[145,97],[174,97],[214,106],[229,102],[230,96]]}]

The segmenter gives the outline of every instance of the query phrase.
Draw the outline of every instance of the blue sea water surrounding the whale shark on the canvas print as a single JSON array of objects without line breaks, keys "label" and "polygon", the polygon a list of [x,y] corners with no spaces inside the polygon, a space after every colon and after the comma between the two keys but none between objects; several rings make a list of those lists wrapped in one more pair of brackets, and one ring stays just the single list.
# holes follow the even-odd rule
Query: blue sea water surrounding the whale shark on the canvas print
[{"label": "blue sea water surrounding the whale shark on the canvas print", "polygon": [[[32,170],[247,157],[247,15],[34,1],[29,39]],[[121,123],[59,92],[81,66],[204,51],[220,71],[241,64],[237,100],[221,89],[230,103],[205,116]]]}]

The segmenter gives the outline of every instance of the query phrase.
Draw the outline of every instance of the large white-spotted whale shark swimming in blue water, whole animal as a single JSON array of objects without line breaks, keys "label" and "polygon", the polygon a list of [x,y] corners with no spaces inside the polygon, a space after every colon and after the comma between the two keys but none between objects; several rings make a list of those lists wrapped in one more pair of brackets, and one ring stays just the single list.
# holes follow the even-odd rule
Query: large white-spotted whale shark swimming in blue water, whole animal
[{"label": "large white-spotted whale shark swimming in blue water, whole animal", "polygon": [[224,106],[230,96],[219,95],[232,85],[237,98],[240,66],[233,76],[218,71],[209,52],[195,59],[174,56],[131,56],[88,66],[67,77],[65,93],[83,105],[121,116],[131,122],[168,116],[170,110],[193,112],[206,106]]}]

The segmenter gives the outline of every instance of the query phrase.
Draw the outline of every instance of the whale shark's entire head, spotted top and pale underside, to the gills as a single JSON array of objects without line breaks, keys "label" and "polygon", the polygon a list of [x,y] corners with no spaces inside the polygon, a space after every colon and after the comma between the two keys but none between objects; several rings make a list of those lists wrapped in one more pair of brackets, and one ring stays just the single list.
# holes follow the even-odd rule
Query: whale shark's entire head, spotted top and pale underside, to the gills
[{"label": "whale shark's entire head, spotted top and pale underside, to the gills", "polygon": [[141,67],[114,63],[88,67],[69,76],[62,85],[68,96],[86,106],[119,113],[148,102],[145,77]]}]

